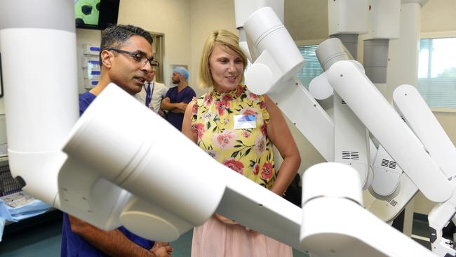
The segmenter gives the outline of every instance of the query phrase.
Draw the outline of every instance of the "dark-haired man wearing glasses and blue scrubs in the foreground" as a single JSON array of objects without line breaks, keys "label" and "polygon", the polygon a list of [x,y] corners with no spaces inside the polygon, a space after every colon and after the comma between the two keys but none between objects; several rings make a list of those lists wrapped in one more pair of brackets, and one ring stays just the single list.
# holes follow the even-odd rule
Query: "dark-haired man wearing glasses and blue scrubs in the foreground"
[{"label": "dark-haired man wearing glasses and blue scrubs in the foreground", "polygon": [[[101,74],[98,84],[79,96],[82,114],[95,97],[113,82],[134,95],[141,91],[156,62],[152,58],[152,37],[132,25],[114,25],[102,32]],[[119,103],[121,104],[121,103]],[[64,213],[61,256],[169,256],[168,243],[150,241],[126,228],[105,231]]]}]

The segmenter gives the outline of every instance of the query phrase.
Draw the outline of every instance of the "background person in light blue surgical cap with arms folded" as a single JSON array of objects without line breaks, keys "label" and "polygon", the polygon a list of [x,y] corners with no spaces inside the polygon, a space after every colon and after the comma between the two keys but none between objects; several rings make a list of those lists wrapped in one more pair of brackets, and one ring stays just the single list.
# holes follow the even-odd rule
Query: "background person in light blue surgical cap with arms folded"
[{"label": "background person in light blue surgical cap with arms folded", "polygon": [[196,96],[196,93],[187,84],[189,72],[185,67],[175,67],[171,79],[173,79],[173,84],[177,84],[177,86],[168,90],[165,98],[161,101],[161,108],[168,110],[166,120],[181,131],[185,108],[187,108],[187,104]]}]

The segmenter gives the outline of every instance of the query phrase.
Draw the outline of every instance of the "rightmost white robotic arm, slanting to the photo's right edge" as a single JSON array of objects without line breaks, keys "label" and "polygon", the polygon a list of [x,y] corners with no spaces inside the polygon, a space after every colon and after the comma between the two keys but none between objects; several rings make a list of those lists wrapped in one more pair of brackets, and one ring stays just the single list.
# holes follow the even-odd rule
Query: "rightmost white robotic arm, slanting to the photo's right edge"
[{"label": "rightmost white robotic arm, slanting to the photo's right edge", "polygon": [[[424,102],[424,99],[417,91],[417,88],[410,85],[398,86],[393,94],[394,105],[398,112],[404,117],[405,122],[410,126],[415,135],[420,138],[425,149],[443,174],[455,185],[456,172],[456,148],[451,143],[448,135],[443,131],[434,114]],[[455,256],[452,240],[442,237],[442,230],[448,225],[450,219],[456,213],[455,195],[443,204],[438,204],[428,216],[431,229],[431,246],[433,251],[440,256],[449,253]]]}]

